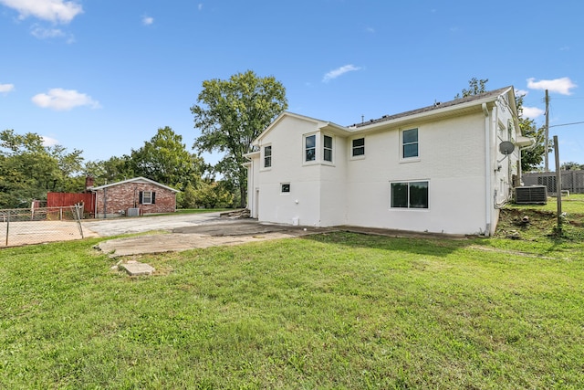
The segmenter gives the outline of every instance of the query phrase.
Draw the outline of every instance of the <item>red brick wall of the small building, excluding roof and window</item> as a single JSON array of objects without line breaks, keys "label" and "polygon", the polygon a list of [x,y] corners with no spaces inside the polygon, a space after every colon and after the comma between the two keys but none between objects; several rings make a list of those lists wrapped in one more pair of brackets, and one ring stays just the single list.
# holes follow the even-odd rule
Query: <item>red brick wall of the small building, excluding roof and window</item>
[{"label": "red brick wall of the small building, excluding roof and window", "polygon": [[[155,193],[153,205],[140,204],[140,192],[151,191]],[[104,195],[105,193],[105,195]],[[105,213],[108,216],[124,213],[131,207],[138,207],[141,214],[173,213],[176,210],[176,194],[158,185],[149,183],[124,183],[112,185],[96,192],[97,217],[103,218],[104,203],[107,207]]]}]

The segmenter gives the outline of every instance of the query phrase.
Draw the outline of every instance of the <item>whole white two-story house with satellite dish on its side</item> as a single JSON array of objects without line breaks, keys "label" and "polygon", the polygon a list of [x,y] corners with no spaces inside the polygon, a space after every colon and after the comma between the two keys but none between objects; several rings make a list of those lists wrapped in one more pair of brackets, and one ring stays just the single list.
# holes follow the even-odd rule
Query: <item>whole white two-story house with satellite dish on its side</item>
[{"label": "whole white two-story house with satellite dish on its side", "polygon": [[513,87],[351,126],[284,112],[246,154],[260,222],[491,235],[520,177]]}]

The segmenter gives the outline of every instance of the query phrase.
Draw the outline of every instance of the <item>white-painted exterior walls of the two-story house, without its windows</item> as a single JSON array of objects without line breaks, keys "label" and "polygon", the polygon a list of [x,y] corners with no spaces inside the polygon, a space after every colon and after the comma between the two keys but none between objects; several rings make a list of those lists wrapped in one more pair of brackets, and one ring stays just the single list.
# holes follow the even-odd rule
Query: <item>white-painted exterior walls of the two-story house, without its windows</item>
[{"label": "white-painted exterior walls of the two-story house, without its windows", "polygon": [[[259,201],[250,200],[252,215],[264,222],[297,220],[303,226],[493,233],[497,206],[508,199],[519,158],[518,149],[507,157],[498,152],[498,144],[508,141],[507,128],[513,127],[511,111],[501,104],[491,104],[488,116],[476,106],[440,120],[376,126],[375,132],[285,114],[257,140],[260,150],[272,146],[272,166],[260,166],[263,152],[253,155],[250,198],[259,194]],[[403,160],[400,134],[413,128],[418,129],[419,157]],[[306,134],[317,134],[316,162],[304,162]],[[322,161],[323,134],[334,140],[332,163]],[[365,154],[353,158],[351,141],[361,137]],[[429,207],[392,208],[391,183],[412,181],[429,183]],[[283,183],[290,184],[290,193],[281,193]]]}]

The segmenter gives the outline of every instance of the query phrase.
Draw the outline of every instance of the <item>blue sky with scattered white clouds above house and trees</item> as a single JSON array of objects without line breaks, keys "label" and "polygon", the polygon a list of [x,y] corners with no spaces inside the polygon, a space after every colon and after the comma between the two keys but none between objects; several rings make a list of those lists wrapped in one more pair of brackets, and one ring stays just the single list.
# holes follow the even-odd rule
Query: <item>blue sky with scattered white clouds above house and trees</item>
[{"label": "blue sky with scattered white clouds above house and trees", "polygon": [[0,130],[107,160],[164,126],[190,148],[203,80],[247,69],[281,81],[289,111],[341,125],[477,78],[526,93],[538,125],[549,90],[560,160],[584,163],[584,123],[558,126],[584,121],[582,15],[579,1],[0,0]]}]

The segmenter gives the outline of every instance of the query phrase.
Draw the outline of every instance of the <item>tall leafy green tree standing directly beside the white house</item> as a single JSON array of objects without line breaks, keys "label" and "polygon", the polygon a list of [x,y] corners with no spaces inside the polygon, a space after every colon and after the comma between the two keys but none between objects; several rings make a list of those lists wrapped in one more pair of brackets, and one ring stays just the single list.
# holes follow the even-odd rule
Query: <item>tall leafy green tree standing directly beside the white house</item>
[{"label": "tall leafy green tree standing directly beside the white house", "polygon": [[247,70],[229,79],[203,81],[197,103],[191,112],[201,135],[194,146],[224,153],[214,170],[239,189],[239,205],[243,207],[247,186],[244,154],[252,152],[255,137],[287,109],[286,90],[274,77],[257,77]]}]

